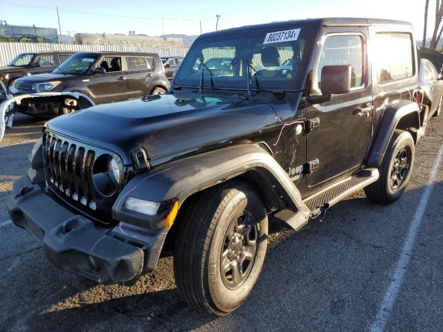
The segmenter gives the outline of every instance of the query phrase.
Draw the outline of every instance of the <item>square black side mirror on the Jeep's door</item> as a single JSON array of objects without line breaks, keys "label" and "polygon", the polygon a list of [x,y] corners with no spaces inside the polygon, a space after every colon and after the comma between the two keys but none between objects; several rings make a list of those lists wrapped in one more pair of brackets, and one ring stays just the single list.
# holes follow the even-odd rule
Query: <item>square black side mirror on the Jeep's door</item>
[{"label": "square black side mirror on the Jeep's door", "polygon": [[352,68],[349,65],[324,66],[320,90],[323,95],[341,95],[351,90]]}]

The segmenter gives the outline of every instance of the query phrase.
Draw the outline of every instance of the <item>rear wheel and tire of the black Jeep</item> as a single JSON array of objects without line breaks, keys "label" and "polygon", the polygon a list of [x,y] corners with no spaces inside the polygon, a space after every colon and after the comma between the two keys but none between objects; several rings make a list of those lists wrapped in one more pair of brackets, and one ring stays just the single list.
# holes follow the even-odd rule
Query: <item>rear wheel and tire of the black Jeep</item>
[{"label": "rear wheel and tire of the black Jeep", "polygon": [[408,131],[396,130],[379,167],[379,179],[364,188],[366,197],[382,205],[397,201],[408,184],[414,159],[413,137]]}]

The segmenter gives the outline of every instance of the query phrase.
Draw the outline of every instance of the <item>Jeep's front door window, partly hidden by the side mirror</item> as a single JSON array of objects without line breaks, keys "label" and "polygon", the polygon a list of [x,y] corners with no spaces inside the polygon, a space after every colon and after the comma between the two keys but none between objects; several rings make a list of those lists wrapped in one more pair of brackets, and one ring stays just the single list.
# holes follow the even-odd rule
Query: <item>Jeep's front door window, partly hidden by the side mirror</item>
[{"label": "Jeep's front door window, partly hidden by the side mirror", "polygon": [[[324,66],[347,64],[351,66],[351,88],[363,85],[363,38],[359,35],[326,37],[317,67],[316,88],[321,86],[321,70]],[[319,89],[320,90],[320,89]]]}]

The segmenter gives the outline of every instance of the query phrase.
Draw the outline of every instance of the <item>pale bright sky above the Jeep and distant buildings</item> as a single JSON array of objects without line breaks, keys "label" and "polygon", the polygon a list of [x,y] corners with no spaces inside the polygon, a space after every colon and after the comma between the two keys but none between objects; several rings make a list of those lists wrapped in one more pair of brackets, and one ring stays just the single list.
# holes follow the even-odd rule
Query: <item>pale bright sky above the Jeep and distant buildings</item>
[{"label": "pale bright sky above the Jeep and distant buildings", "polygon": [[[168,0],[168,1],[28,1],[0,0],[0,20],[8,24],[58,28],[62,33],[123,33],[158,36],[186,35],[288,19],[315,17],[374,17],[410,21],[415,38],[422,39],[425,0]],[[435,0],[430,0],[428,33],[433,32]],[[163,25],[162,25],[163,16]]]}]

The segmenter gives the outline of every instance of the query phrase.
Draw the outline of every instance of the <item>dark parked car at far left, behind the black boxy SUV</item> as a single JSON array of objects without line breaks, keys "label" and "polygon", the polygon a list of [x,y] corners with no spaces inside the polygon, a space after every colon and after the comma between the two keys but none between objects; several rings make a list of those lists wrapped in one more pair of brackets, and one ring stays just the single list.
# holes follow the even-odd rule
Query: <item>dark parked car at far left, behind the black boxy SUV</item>
[{"label": "dark parked car at far left, behind the black boxy SUV", "polygon": [[6,67],[0,67],[0,80],[10,86],[18,77],[50,73],[74,52],[21,53]]}]

